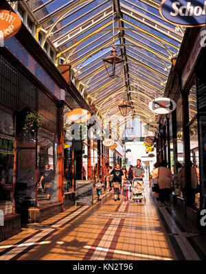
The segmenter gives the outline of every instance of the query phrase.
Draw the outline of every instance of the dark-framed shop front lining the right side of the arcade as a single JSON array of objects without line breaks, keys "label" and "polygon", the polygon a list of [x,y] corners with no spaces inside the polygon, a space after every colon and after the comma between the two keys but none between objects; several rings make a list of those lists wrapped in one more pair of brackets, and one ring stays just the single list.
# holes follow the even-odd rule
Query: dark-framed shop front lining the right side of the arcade
[{"label": "dark-framed shop front lining the right side of the arcade", "polygon": [[[179,56],[172,65],[164,96],[176,102],[174,112],[162,115],[159,121],[170,130],[170,149],[164,154],[163,129],[159,130],[158,158],[174,165],[175,194],[177,202],[195,224],[199,225],[199,213],[205,209],[205,48],[201,44],[201,32],[205,27],[185,32]],[[192,43],[191,43],[192,41]],[[184,54],[187,52],[187,58]],[[167,124],[168,120],[168,124]],[[167,133],[167,132],[166,132]],[[167,135],[167,134],[166,134]],[[171,146],[172,144],[172,146]],[[183,168],[185,185],[179,178]]]}]

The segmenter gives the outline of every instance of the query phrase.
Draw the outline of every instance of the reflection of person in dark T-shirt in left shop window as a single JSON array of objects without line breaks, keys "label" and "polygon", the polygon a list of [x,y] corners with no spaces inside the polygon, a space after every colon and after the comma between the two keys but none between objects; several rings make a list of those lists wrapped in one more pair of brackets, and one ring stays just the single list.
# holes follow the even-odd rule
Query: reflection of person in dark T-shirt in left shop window
[{"label": "reflection of person in dark T-shirt in left shop window", "polygon": [[50,169],[49,165],[45,165],[45,170],[41,173],[41,178],[39,184],[44,184],[44,190],[47,194],[47,200],[50,199],[51,191],[52,191],[52,181],[53,181],[54,171]]}]

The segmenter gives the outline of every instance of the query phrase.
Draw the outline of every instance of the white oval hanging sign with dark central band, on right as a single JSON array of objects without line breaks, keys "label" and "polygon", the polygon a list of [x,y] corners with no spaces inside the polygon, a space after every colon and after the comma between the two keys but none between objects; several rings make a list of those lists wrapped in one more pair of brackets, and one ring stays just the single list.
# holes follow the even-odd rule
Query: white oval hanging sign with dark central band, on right
[{"label": "white oval hanging sign with dark central band, on right", "polygon": [[168,114],[176,109],[176,103],[170,98],[159,97],[152,100],[148,107],[152,112],[157,114]]}]

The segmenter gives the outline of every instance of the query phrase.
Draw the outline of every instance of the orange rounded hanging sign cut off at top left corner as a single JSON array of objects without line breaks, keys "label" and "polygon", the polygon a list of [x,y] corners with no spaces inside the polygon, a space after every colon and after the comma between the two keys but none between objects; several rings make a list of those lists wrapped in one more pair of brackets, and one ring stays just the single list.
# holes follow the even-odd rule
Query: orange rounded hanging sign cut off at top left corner
[{"label": "orange rounded hanging sign cut off at top left corner", "polygon": [[0,38],[8,39],[21,28],[21,19],[14,12],[0,10]]}]

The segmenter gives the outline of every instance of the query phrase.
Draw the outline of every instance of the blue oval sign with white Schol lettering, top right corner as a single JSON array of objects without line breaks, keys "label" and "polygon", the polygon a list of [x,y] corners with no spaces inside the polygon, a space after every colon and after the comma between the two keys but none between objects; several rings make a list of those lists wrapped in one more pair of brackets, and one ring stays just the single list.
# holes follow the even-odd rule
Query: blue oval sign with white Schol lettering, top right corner
[{"label": "blue oval sign with white Schol lettering, top right corner", "polygon": [[206,1],[164,0],[159,8],[161,16],[174,25],[198,27],[206,25]]}]

